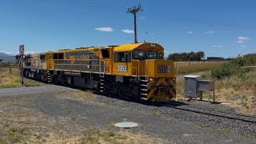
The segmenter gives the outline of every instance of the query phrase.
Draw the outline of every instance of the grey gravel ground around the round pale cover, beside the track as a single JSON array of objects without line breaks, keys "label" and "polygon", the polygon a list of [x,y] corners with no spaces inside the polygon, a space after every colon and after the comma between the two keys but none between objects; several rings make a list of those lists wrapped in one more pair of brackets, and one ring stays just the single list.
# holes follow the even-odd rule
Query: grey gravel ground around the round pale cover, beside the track
[{"label": "grey gravel ground around the round pale cover, beside the track", "polygon": [[[86,103],[44,95],[34,99],[30,107],[53,118],[73,118],[80,125],[106,128],[114,122],[137,122],[138,127],[131,129],[134,133],[142,132],[162,138],[166,143],[256,142],[256,138],[246,138],[234,131],[183,122],[178,118],[162,117],[158,111],[154,111],[154,108],[149,106],[99,95],[94,95],[93,100]],[[150,109],[153,109],[151,113]],[[112,129],[118,128],[112,127]]]}]

